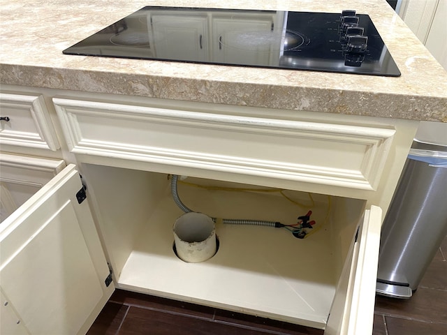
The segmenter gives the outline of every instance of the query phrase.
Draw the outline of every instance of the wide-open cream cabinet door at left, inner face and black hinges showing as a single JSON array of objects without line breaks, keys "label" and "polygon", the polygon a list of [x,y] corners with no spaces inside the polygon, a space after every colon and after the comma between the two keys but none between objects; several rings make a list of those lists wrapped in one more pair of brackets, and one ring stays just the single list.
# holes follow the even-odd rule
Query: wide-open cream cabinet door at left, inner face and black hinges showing
[{"label": "wide-open cream cabinet door at left, inner face and black hinges showing", "polygon": [[80,190],[68,165],[0,225],[0,318],[20,325],[12,334],[85,334],[114,290]]}]

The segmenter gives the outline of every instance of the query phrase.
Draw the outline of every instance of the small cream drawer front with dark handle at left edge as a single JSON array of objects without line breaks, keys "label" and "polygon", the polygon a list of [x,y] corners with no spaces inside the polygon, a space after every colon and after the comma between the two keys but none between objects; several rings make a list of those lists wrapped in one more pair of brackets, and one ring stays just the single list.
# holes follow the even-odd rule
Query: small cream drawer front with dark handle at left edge
[{"label": "small cream drawer front with dark handle at left edge", "polygon": [[56,151],[59,149],[43,96],[0,94],[0,143]]}]

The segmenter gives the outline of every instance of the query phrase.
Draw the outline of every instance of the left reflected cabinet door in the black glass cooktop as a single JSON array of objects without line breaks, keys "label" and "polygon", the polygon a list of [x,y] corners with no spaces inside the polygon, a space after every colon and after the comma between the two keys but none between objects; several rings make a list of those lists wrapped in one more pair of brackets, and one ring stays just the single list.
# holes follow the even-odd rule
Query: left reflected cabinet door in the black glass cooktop
[{"label": "left reflected cabinet door in the black glass cooktop", "polygon": [[207,60],[207,17],[153,15],[151,22],[157,58]]}]

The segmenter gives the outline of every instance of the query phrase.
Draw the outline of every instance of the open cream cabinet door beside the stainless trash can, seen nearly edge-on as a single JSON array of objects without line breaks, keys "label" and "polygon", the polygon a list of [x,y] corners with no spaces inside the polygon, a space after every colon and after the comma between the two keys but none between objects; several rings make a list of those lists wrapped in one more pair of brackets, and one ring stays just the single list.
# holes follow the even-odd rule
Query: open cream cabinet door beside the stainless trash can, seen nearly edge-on
[{"label": "open cream cabinet door beside the stainless trash can, seen nearly edge-on", "polygon": [[372,334],[382,210],[365,211],[344,263],[325,335]]}]

